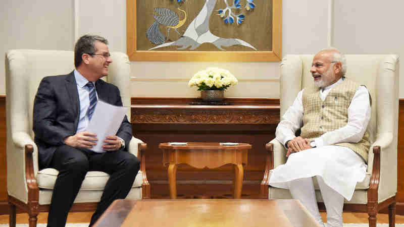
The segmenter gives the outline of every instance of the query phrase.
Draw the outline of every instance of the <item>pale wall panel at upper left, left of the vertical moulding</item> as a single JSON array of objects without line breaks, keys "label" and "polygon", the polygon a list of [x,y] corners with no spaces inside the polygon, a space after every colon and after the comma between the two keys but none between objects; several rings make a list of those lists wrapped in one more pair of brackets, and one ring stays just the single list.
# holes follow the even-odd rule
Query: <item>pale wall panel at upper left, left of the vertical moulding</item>
[{"label": "pale wall panel at upper left, left of the vertical moulding", "polygon": [[73,49],[72,0],[2,1],[0,20],[0,94],[6,93],[4,53],[8,50]]}]

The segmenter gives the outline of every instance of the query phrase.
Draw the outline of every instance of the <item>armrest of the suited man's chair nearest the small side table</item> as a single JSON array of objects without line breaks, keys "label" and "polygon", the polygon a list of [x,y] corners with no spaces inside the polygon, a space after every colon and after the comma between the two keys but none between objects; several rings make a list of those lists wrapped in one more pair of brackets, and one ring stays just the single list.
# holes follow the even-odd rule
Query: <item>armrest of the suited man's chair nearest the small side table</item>
[{"label": "armrest of the suited man's chair nearest the small side table", "polygon": [[150,198],[150,184],[147,181],[146,175],[146,148],[147,144],[135,137],[132,137],[129,142],[128,151],[140,160],[140,171],[142,172],[142,199]]}]

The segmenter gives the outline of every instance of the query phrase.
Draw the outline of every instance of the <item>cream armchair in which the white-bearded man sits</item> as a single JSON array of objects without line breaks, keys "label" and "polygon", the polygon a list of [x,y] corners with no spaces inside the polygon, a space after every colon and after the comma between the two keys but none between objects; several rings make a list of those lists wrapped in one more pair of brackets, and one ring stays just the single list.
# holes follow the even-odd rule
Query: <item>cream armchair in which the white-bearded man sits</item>
[{"label": "cream armchair in which the white-bearded man sits", "polygon": [[[368,128],[374,143],[369,150],[366,178],[356,186],[354,196],[344,202],[344,211],[367,212],[369,226],[376,226],[376,214],[388,206],[389,226],[395,222],[397,192],[397,125],[399,60],[396,55],[345,55],[346,77],[366,85],[372,96],[372,117]],[[280,114],[293,103],[297,93],[313,83],[310,68],[313,55],[287,55],[280,65]],[[286,162],[286,149],[276,139],[268,150],[262,198],[290,199],[289,190],[269,186],[271,169]],[[314,178],[317,201],[324,210],[318,183]]]}]

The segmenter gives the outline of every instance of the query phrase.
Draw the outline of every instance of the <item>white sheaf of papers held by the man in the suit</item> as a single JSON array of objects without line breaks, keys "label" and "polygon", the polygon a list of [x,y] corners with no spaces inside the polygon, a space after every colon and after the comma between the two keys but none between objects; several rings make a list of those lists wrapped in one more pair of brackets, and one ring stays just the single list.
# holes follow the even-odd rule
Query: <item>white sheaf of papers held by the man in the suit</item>
[{"label": "white sheaf of papers held by the man in the suit", "polygon": [[97,144],[90,150],[103,153],[104,140],[118,132],[129,107],[111,105],[98,100],[86,131],[97,134]]}]

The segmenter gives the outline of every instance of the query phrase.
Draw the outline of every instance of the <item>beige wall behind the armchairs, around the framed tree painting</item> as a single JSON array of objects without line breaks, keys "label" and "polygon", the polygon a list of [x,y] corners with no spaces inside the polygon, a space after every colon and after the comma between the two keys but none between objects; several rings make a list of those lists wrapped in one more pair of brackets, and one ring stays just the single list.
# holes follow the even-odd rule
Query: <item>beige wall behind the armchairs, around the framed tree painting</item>
[{"label": "beige wall behind the armchairs, around the framed tree painting", "polygon": [[[404,55],[400,40],[404,31],[399,29],[399,21],[404,21],[399,9],[404,4],[387,2],[372,6],[364,0],[349,4],[283,0],[282,55],[315,53],[328,44],[346,53]],[[12,48],[72,49],[74,40],[86,33],[107,37],[111,51],[126,52],[126,0],[46,0],[35,4],[7,0],[3,6],[0,19],[8,21],[0,37],[3,52]],[[4,94],[1,65],[0,94]],[[239,79],[238,85],[226,91],[227,97],[279,97],[278,62],[132,62],[132,96],[199,96],[187,83],[195,72],[209,66],[229,69]],[[400,97],[404,97],[404,89]]]}]

